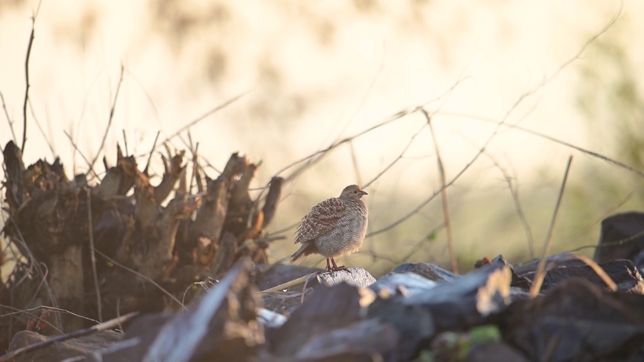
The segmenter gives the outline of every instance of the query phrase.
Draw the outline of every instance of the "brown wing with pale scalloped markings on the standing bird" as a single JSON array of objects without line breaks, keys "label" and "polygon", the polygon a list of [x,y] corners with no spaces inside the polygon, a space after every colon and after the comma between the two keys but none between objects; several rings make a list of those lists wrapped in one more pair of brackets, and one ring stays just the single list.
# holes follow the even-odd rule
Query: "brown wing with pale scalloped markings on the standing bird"
[{"label": "brown wing with pale scalloped markings on the standing bird", "polygon": [[330,233],[344,211],[345,202],[337,197],[315,205],[307,216],[302,218],[302,224],[299,224],[296,230],[297,236],[293,243],[308,242],[317,236]]}]

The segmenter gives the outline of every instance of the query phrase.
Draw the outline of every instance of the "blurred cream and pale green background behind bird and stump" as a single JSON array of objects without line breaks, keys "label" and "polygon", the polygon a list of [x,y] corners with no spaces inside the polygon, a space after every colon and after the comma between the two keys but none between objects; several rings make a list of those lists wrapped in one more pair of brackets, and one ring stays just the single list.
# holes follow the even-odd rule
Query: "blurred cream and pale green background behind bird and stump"
[{"label": "blurred cream and pale green background behind bird and stump", "polygon": [[[272,261],[297,249],[294,227],[310,207],[355,183],[369,193],[370,236],[341,265],[375,276],[405,261],[449,267],[440,196],[430,200],[441,185],[438,146],[447,182],[473,161],[448,188],[460,271],[497,254],[526,262],[542,251],[569,155],[551,253],[592,246],[603,216],[642,208],[644,178],[569,146],[644,170],[644,3],[620,6],[3,0],[0,144],[21,144],[37,12],[26,164],[57,155],[71,178],[88,170],[83,156],[98,155],[100,174],[103,155],[115,164],[125,135],[144,165],[158,131],[166,140],[243,94],[169,145],[198,142],[213,178],[234,151],[261,160],[257,193],[277,173],[289,178],[269,229],[285,236],[270,248]],[[422,105],[437,144],[421,112],[371,129]],[[300,171],[285,169],[347,137]],[[153,171],[163,171],[157,153]],[[302,263],[324,266],[320,256]]]}]

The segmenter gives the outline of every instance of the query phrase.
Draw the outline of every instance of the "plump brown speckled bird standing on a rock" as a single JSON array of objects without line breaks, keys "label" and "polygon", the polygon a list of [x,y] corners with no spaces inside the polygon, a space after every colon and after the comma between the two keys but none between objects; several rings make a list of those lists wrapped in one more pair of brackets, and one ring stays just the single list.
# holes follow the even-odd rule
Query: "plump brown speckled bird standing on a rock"
[{"label": "plump brown speckled bird standing on a rock", "polygon": [[290,257],[290,263],[309,254],[321,254],[327,258],[329,272],[350,272],[344,265],[337,266],[334,258],[352,254],[365,240],[369,214],[362,200],[365,195],[368,194],[360,186],[349,185],[339,197],[328,198],[312,207],[296,229],[293,243],[302,245]]}]

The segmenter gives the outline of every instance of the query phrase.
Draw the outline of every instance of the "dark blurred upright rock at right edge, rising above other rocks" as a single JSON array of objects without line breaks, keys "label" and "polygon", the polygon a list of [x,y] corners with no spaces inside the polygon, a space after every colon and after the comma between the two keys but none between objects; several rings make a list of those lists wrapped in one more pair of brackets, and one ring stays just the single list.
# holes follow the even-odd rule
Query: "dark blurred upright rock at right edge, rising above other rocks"
[{"label": "dark blurred upright rock at right edge, rising above other rocks", "polygon": [[634,260],[644,249],[644,213],[623,213],[601,221],[601,236],[594,259],[598,263],[612,259]]}]

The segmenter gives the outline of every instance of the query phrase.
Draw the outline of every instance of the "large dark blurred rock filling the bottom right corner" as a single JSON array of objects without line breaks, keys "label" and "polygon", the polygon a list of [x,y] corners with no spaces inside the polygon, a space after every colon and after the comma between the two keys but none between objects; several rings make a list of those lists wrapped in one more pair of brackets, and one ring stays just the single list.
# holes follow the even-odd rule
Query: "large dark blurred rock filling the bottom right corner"
[{"label": "large dark blurred rock filling the bottom right corner", "polygon": [[572,278],[500,315],[504,339],[533,361],[643,361],[644,296]]}]

